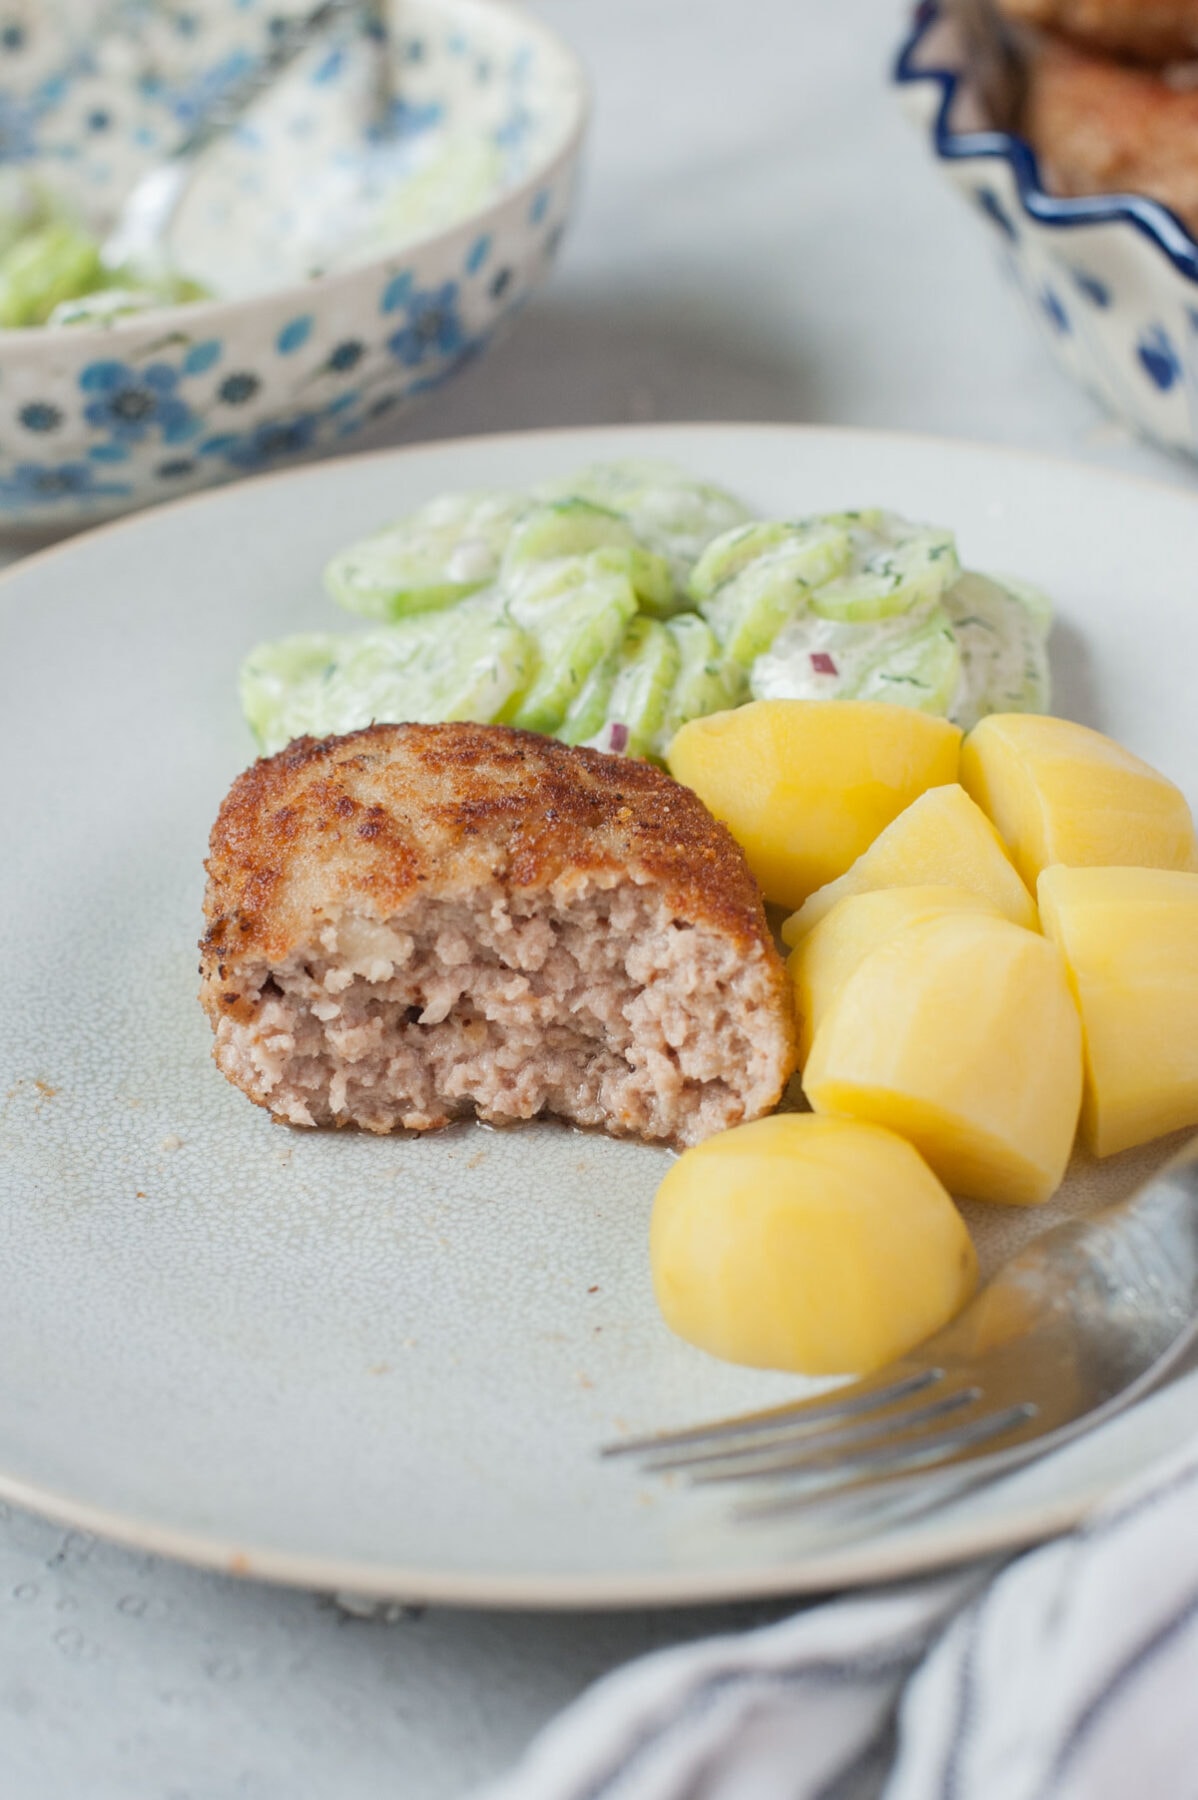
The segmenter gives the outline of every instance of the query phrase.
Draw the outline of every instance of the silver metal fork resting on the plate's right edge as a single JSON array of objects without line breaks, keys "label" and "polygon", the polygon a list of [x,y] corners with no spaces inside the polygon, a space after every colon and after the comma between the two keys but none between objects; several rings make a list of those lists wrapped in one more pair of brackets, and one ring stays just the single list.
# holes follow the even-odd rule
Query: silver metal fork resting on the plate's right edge
[{"label": "silver metal fork resting on the plate's right edge", "polygon": [[878,1528],[1058,1449],[1198,1339],[1198,1138],[1135,1193],[1036,1238],[919,1352],[829,1395],[624,1440],[651,1472],[766,1483],[741,1517]]}]

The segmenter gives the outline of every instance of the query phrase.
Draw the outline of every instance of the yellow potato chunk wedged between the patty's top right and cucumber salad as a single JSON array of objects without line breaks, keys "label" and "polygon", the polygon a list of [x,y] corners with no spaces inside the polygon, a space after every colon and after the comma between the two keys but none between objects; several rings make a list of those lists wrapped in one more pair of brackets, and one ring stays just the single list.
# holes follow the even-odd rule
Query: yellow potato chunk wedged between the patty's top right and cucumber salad
[{"label": "yellow potato chunk wedged between the patty's top right and cucumber salad", "polygon": [[925,788],[957,779],[961,733],[880,700],[752,700],[693,718],[669,772],[732,832],[766,896],[799,907]]}]

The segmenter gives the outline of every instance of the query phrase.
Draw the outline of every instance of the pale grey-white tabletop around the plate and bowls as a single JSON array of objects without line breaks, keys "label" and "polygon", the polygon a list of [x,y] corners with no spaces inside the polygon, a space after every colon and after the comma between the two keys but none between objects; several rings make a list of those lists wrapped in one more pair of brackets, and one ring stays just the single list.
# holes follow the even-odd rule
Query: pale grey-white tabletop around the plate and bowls
[{"label": "pale grey-white tabletop around the plate and bowls", "polygon": [[[1191,482],[1072,389],[885,86],[896,0],[540,0],[592,70],[543,299],[403,441],[791,419]],[[399,1622],[0,1507],[0,1800],[441,1800],[622,1660],[777,1615]]]}]

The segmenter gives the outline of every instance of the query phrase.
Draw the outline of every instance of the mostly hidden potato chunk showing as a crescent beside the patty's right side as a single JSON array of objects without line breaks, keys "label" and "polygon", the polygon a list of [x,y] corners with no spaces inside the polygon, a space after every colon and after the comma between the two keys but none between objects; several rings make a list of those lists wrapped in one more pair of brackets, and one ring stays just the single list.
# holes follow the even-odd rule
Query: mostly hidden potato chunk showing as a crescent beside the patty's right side
[{"label": "mostly hidden potato chunk showing as a crescent beside the patty's right side", "polygon": [[921,925],[946,913],[1004,916],[993,900],[966,887],[878,887],[849,895],[818,920],[786,959],[786,974],[795,986],[799,1067],[811,1055],[824,1013],[858,963],[905,925]]}]

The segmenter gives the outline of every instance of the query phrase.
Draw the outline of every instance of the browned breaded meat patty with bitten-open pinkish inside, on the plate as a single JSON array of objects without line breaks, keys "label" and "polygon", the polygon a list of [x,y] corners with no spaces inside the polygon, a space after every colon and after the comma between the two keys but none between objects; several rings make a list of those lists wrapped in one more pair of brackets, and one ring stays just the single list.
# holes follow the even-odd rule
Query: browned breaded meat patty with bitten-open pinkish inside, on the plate
[{"label": "browned breaded meat patty with bitten-open pinkish inside, on the plate", "polygon": [[234,781],[207,869],[216,1062],[291,1125],[689,1145],[793,1069],[745,859],[649,763],[504,725],[297,738]]}]

